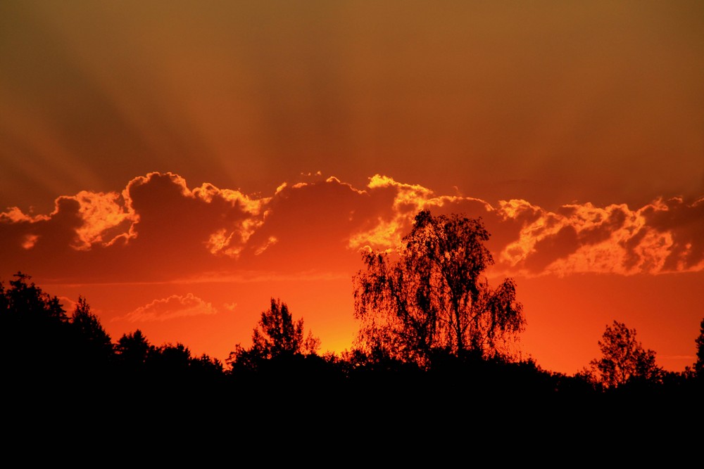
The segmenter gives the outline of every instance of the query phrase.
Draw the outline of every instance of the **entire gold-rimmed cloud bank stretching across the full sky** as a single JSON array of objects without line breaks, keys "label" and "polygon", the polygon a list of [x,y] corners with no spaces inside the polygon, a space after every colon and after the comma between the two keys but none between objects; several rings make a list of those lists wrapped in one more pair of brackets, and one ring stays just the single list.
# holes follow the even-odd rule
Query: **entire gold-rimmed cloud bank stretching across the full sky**
[{"label": "entire gold-rimmed cloud bank stretching across the full sky", "polygon": [[153,172],[121,192],[57,198],[50,214],[12,207],[0,213],[3,268],[75,282],[348,275],[360,268],[361,249],[396,248],[427,209],[482,217],[501,274],[704,269],[704,198],[550,211],[527,200],[492,206],[440,195],[379,174],[361,189],[318,176],[253,196]]}]

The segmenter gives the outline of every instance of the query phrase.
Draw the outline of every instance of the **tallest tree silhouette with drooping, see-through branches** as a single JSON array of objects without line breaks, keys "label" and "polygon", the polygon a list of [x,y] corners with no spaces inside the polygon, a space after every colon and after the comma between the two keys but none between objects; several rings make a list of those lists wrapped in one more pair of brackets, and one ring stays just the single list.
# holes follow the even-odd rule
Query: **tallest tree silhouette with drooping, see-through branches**
[{"label": "tallest tree silhouette with drooping, see-through branches", "polygon": [[488,239],[481,219],[424,210],[395,256],[363,254],[353,278],[358,343],[423,366],[440,351],[505,356],[525,319],[512,279],[486,281]]}]

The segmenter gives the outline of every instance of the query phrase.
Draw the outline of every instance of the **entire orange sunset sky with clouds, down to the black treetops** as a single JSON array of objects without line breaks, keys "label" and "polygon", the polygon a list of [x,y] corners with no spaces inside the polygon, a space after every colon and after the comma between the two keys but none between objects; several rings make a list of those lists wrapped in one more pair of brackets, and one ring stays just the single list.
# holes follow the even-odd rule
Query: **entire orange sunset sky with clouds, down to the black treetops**
[{"label": "entire orange sunset sky with clouds, down to the black treetops", "polygon": [[227,358],[271,297],[352,347],[360,249],[482,217],[522,354],[704,318],[700,1],[0,4],[0,281]]}]

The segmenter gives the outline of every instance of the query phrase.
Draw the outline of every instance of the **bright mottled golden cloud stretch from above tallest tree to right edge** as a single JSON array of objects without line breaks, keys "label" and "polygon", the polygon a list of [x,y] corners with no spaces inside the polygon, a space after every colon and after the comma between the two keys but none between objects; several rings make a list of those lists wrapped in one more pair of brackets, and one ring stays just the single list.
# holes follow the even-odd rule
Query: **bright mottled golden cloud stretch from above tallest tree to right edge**
[{"label": "bright mottled golden cloud stretch from above tallest tree to right edge", "polygon": [[[418,210],[482,217],[491,233],[496,269],[505,274],[662,274],[704,269],[704,198],[655,200],[631,210],[625,204],[568,204],[551,212],[527,200],[483,200],[435,195],[422,186],[373,176],[367,186],[388,191],[392,202],[362,231],[353,248],[396,248]],[[389,196],[389,194],[387,194]]]}]

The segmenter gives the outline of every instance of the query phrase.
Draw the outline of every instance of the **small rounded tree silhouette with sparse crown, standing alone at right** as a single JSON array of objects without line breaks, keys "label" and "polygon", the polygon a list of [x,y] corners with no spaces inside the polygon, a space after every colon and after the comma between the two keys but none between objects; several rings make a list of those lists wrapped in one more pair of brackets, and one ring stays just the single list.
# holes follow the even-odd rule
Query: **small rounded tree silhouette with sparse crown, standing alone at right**
[{"label": "small rounded tree silhouette with sparse crown, standing alone at right", "polygon": [[599,385],[616,388],[627,383],[656,383],[662,369],[655,365],[655,352],[643,349],[636,340],[636,330],[614,321],[606,326],[598,341],[601,359],[591,361],[593,378]]}]

